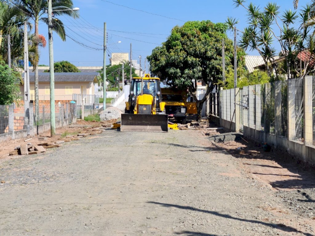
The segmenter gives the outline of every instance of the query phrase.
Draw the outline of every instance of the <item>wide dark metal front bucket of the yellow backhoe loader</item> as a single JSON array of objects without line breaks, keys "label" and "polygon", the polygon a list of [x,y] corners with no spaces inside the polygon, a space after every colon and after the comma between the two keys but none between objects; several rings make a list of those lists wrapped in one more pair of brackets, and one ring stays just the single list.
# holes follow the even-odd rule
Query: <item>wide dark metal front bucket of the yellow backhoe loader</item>
[{"label": "wide dark metal front bucket of the yellow backhoe loader", "polygon": [[120,131],[167,132],[168,115],[121,114]]}]

